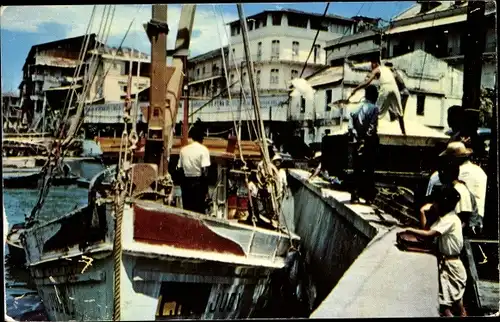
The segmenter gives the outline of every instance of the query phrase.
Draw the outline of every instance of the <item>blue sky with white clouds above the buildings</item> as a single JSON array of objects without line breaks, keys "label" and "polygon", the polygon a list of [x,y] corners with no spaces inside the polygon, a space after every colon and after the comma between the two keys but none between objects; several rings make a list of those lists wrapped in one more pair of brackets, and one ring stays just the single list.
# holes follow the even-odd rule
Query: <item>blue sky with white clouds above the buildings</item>
[{"label": "blue sky with white clouds above the buildings", "polygon": [[[352,17],[362,15],[390,20],[414,2],[332,2],[328,13]],[[245,15],[265,9],[291,8],[307,12],[323,13],[325,2],[247,3]],[[22,67],[31,46],[58,39],[85,34],[93,5],[67,6],[8,6],[2,7],[0,20],[2,92],[18,93]],[[103,13],[103,5],[96,6],[91,32],[97,33]],[[214,12],[215,11],[215,12]],[[170,32],[167,48],[174,47],[181,5],[168,5]],[[150,43],[142,24],[151,18],[151,5],[117,5],[107,44],[118,46],[131,21],[132,27],[124,46],[150,53]],[[238,19],[236,5],[202,4],[197,6],[190,44],[192,56],[227,45],[227,29],[224,25]],[[226,27],[227,28],[227,27]]]}]

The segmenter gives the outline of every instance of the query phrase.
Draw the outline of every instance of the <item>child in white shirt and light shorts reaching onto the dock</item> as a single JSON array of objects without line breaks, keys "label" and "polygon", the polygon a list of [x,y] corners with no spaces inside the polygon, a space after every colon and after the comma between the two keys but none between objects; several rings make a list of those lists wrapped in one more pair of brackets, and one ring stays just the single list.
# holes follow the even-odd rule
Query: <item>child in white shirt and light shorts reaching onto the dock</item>
[{"label": "child in white shirt and light shorts reaching onto the dock", "polygon": [[462,223],[455,213],[460,195],[455,188],[443,188],[440,197],[432,204],[439,216],[428,230],[410,228],[408,231],[424,238],[436,238],[439,251],[439,304],[441,313],[453,316],[453,311],[466,316],[463,295],[467,272],[460,260],[464,245]]}]

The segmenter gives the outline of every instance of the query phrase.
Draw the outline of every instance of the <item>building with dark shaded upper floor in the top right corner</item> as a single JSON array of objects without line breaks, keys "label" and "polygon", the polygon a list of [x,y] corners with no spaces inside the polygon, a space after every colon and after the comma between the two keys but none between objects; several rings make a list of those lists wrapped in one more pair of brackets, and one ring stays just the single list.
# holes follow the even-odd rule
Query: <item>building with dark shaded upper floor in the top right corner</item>
[{"label": "building with dark shaded upper floor in the top right corner", "polygon": [[[467,36],[468,1],[417,1],[392,19],[385,31],[387,56],[395,57],[422,49],[463,70]],[[486,42],[481,83],[495,88],[497,78],[496,4],[488,1],[485,10]]]}]

